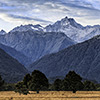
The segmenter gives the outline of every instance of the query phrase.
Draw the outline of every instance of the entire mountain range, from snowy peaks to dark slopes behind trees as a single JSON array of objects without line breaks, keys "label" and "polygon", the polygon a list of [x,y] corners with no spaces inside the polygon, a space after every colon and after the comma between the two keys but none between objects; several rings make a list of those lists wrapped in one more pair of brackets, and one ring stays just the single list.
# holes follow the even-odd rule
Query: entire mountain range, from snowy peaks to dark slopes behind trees
[{"label": "entire mountain range, from snowy peaks to dark slopes behind trees", "polygon": [[68,17],[46,27],[29,24],[8,33],[1,30],[0,74],[7,82],[17,82],[28,70],[38,69],[51,78],[75,70],[84,79],[100,82],[99,34],[100,25],[82,26]]}]

